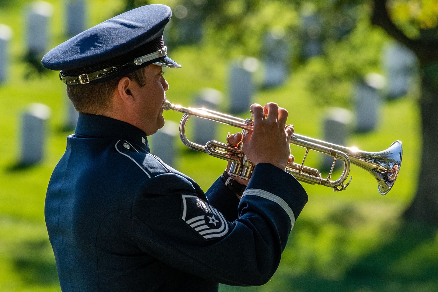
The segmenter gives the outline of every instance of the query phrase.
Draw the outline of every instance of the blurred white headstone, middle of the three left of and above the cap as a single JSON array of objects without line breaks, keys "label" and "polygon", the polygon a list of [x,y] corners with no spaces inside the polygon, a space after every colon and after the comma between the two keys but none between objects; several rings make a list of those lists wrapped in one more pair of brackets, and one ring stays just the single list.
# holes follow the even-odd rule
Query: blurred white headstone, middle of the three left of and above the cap
[{"label": "blurred white headstone, middle of the three left of and above the cap", "polygon": [[28,52],[34,55],[46,53],[53,5],[45,1],[35,1],[28,7],[26,14]]}]

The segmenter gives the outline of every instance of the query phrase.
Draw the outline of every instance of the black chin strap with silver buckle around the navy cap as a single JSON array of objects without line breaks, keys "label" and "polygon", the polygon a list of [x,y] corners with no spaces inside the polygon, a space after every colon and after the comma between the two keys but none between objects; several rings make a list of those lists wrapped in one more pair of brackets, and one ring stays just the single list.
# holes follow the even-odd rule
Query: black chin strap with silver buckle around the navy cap
[{"label": "black chin strap with silver buckle around the navy cap", "polygon": [[[141,65],[141,64],[143,64],[145,62],[148,62],[148,61],[160,58],[160,57],[165,57],[164,59],[166,59],[167,58],[166,56],[167,56],[167,47],[164,46],[162,49],[160,49],[160,50],[158,50],[156,52],[153,52],[153,53],[150,53],[150,54],[147,54],[147,55],[135,58],[134,61],[129,62],[129,63],[124,64],[124,65],[117,65],[117,66],[105,68],[105,69],[102,69],[102,70],[99,70],[99,71],[95,71],[95,72],[92,72],[92,73],[85,73],[85,74],[82,74],[82,75],[79,75],[79,76],[73,76],[73,77],[71,77],[71,76],[64,76],[62,71],[60,71],[59,72],[59,78],[61,79],[62,82],[64,82],[67,85],[87,84],[87,83],[90,83],[90,82],[92,82],[94,80],[99,80],[99,79],[102,79],[102,78],[107,77],[109,75],[118,73],[120,71],[134,68],[134,67],[136,67],[138,65]],[[162,61],[164,61],[164,60],[162,60]],[[177,64],[176,62],[175,62],[175,64],[177,64],[177,65],[175,65],[175,64],[166,64],[166,63],[162,63],[160,61],[157,61],[157,62],[155,62],[153,64],[156,64],[158,66],[168,67],[168,68],[180,68],[181,67],[181,65]]]}]

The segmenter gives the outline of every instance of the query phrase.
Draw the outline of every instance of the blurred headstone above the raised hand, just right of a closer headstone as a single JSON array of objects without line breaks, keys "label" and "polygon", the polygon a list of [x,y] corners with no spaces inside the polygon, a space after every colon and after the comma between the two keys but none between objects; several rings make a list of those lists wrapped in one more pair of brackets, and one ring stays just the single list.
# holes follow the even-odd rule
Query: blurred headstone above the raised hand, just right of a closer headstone
[{"label": "blurred headstone above the raised hand, just right of a closer headstone", "polygon": [[263,86],[282,85],[287,76],[289,64],[289,45],[284,40],[285,30],[276,26],[265,37],[264,57],[265,74]]}]

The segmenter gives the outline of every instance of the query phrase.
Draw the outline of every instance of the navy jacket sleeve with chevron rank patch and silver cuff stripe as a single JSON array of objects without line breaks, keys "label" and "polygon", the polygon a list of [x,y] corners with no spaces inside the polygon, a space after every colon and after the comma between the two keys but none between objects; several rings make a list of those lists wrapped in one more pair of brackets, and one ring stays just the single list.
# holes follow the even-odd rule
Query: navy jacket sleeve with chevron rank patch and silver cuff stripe
[{"label": "navy jacket sleeve with chevron rank patch and silver cuff stripe", "polygon": [[232,222],[200,197],[204,194],[178,174],[147,179],[133,207],[138,246],[172,267],[211,281],[265,284],[307,202],[300,183],[272,164],[258,164]]}]

